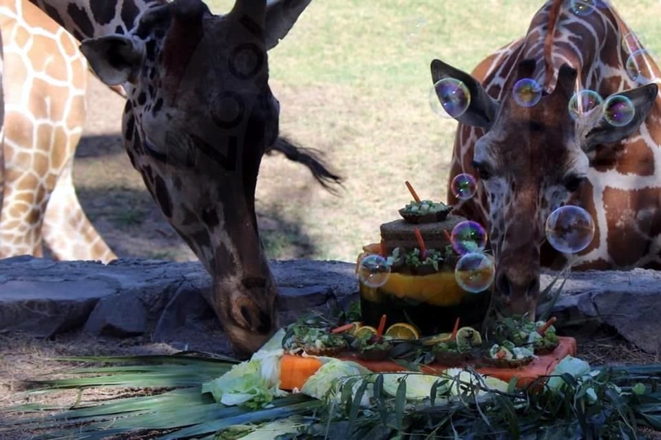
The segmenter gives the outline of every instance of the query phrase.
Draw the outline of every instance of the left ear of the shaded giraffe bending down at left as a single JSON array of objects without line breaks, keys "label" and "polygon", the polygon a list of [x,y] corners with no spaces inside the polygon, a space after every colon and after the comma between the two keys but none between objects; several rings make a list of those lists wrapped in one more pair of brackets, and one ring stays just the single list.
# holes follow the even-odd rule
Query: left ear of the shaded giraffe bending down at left
[{"label": "left ear of the shaded giraffe bending down at left", "polygon": [[84,40],[81,52],[92,70],[106,85],[132,83],[138,77],[145,57],[142,41],[123,35]]}]

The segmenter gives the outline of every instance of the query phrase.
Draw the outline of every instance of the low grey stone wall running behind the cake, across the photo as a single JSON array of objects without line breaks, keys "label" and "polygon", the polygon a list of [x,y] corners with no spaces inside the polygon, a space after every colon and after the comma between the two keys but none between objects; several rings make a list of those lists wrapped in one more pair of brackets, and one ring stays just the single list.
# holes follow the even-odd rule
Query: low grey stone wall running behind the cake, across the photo
[{"label": "low grey stone wall running behind the cake, across the photo", "polygon": [[[282,294],[282,324],[357,298],[352,263],[273,261],[272,268]],[[543,275],[542,286],[553,278]],[[0,332],[49,337],[83,329],[98,336],[149,334],[156,342],[170,342],[215,322],[204,301],[210,285],[197,262],[122,259],[103,265],[14,257],[0,261]],[[641,349],[658,353],[661,272],[571,274],[553,314],[583,332],[605,323]]]}]

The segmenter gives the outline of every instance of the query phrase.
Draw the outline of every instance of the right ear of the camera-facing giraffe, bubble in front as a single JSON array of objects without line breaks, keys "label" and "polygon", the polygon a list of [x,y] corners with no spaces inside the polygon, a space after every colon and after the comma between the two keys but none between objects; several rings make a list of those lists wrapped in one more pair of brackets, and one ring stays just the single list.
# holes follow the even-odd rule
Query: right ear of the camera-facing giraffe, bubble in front
[{"label": "right ear of the camera-facing giraffe, bubble in front", "polygon": [[658,93],[659,87],[654,83],[637,87],[636,89],[620,91],[618,95],[629,98],[633,104],[633,108],[636,109],[633,119],[625,126],[613,126],[605,118],[600,118],[587,133],[584,146],[585,150],[594,150],[600,144],[620,142],[635,133],[640,127],[640,124],[647,119],[647,115],[649,115],[649,111]]}]

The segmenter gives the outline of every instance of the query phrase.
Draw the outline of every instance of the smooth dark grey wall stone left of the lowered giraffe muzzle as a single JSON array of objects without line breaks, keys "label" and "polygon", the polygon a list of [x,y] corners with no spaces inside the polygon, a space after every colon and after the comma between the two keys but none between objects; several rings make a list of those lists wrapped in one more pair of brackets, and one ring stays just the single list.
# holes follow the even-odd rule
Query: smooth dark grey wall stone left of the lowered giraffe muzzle
[{"label": "smooth dark grey wall stone left of the lowered giraffe muzzle", "polygon": [[147,311],[134,294],[106,296],[94,307],[85,331],[116,338],[139,336],[147,331]]}]

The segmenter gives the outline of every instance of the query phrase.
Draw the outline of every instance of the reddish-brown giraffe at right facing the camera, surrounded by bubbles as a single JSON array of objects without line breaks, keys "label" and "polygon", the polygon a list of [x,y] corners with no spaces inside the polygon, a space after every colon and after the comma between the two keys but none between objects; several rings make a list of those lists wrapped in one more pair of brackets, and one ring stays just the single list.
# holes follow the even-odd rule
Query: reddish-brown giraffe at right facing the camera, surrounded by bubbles
[{"label": "reddish-brown giraffe at right facing the camera, surrounded by bubbles", "polygon": [[[659,80],[641,85],[627,74],[629,52],[642,45],[621,44],[631,30],[609,2],[582,2],[587,10],[575,5],[547,1],[523,38],[472,74],[431,63],[434,83],[454,78],[470,91],[468,109],[455,118],[450,181],[468,173],[478,192],[467,201],[449,192],[448,201],[490,232],[495,316],[527,313],[534,319],[540,267],[557,269],[567,260],[545,242],[549,213],[565,204],[585,208],[596,224],[594,239],[574,257],[577,270],[661,267]],[[645,76],[660,78],[657,65],[641,54]],[[522,78],[541,86],[533,107],[514,102],[512,91]],[[573,120],[569,101],[585,89],[605,99],[626,96],[635,117],[611,126],[599,106]]]}]

